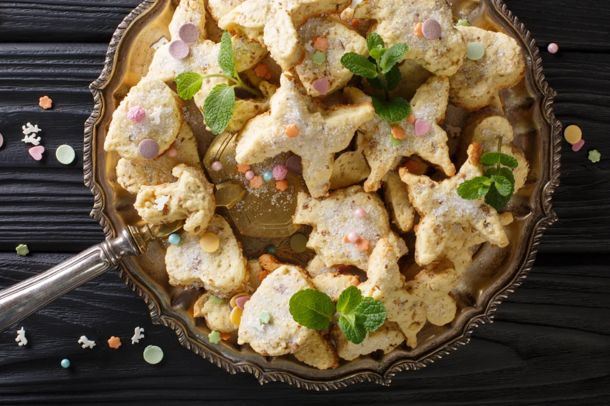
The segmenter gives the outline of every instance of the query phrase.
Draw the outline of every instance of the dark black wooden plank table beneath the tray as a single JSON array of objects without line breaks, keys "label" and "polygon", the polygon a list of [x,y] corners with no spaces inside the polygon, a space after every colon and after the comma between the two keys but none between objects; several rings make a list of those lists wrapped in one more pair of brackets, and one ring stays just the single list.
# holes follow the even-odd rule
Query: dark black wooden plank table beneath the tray
[{"label": "dark black wooden plank table beneath the tray", "polygon": [[[554,110],[578,124],[586,144],[564,141],[561,187],[553,205],[559,222],[547,231],[536,265],[500,306],[495,322],[440,362],[399,373],[391,387],[362,384],[331,393],[282,383],[260,387],[232,376],[151,323],[141,299],[112,271],[85,284],[0,334],[1,404],[610,404],[610,2],[506,0],[533,32],[544,72],[559,93]],[[87,86],[102,68],[113,31],[138,0],[0,0],[0,285],[9,286],[100,242],[88,216],[93,199],[83,184],[83,125],[93,107]],[[546,51],[559,44],[558,54]],[[53,99],[52,110],[38,98]],[[37,162],[21,142],[21,126],[43,129],[48,152]],[[54,157],[70,144],[77,159]],[[590,163],[597,149],[601,161]],[[30,254],[15,254],[20,243]],[[15,343],[23,325],[29,344]],[[146,337],[129,338],[134,327]],[[87,335],[95,349],[76,341]],[[106,340],[123,340],[118,350]],[[142,360],[154,343],[159,365]],[[60,360],[68,358],[70,369]]]}]

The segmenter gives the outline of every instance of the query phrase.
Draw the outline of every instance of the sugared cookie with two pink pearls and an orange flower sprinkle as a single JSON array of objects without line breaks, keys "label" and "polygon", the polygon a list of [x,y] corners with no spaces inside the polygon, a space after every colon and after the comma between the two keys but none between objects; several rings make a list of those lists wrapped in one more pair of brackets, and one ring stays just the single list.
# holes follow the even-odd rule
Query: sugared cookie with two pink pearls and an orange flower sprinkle
[{"label": "sugared cookie with two pink pearls and an orange flower sprinkle", "polygon": [[[404,241],[390,229],[381,198],[361,186],[339,189],[323,200],[301,192],[294,222],[314,227],[307,247],[315,250],[327,266],[354,265],[366,270],[370,253],[382,238],[389,239],[401,255],[407,253]],[[356,239],[351,241],[350,237]]]}]

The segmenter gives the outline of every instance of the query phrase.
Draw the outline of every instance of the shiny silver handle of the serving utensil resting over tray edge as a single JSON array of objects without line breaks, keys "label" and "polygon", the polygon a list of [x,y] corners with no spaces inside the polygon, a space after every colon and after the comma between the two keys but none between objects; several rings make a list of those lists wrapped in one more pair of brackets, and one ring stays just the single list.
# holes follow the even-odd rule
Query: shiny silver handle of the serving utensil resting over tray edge
[{"label": "shiny silver handle of the serving utensil resting over tray edge", "polygon": [[0,331],[12,327],[70,290],[118,267],[123,257],[140,254],[144,243],[140,235],[123,229],[117,238],[94,245],[40,275],[2,290]]}]

